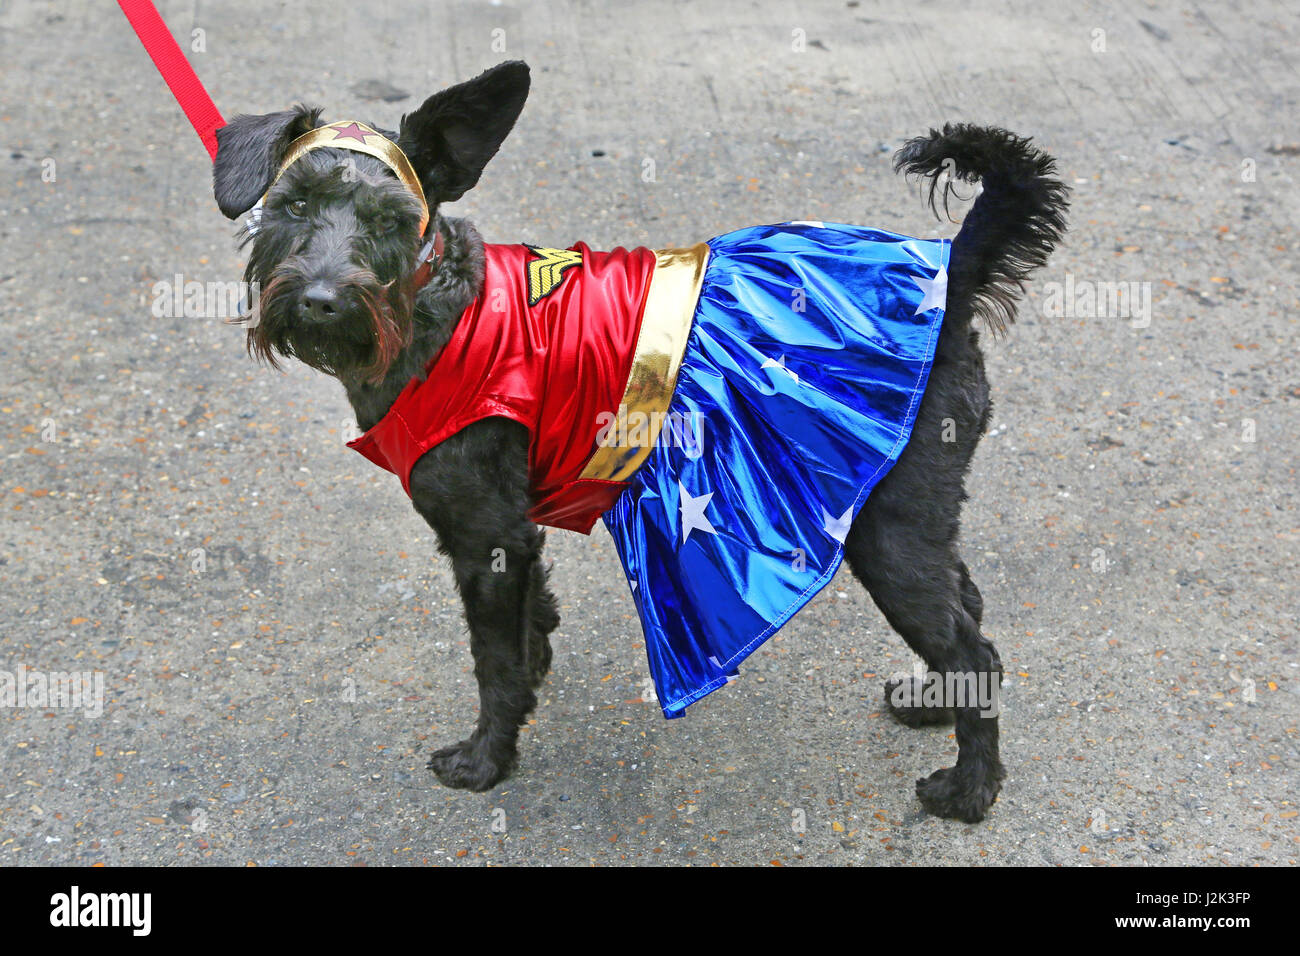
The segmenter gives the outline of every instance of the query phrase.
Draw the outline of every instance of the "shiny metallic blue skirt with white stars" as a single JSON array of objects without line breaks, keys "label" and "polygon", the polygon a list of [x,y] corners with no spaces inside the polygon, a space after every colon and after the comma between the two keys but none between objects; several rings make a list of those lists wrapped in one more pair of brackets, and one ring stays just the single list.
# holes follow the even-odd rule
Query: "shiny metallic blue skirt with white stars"
[{"label": "shiny metallic blue skirt with white stars", "polygon": [[708,247],[668,425],[604,512],[664,717],[835,576],[911,434],[950,242],[786,222]]}]

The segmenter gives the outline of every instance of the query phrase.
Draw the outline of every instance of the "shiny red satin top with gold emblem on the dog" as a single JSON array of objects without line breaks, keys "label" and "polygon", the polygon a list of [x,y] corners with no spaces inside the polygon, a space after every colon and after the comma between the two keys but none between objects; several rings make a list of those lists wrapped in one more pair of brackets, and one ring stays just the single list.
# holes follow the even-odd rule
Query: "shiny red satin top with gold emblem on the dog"
[{"label": "shiny red satin top with gold emblem on the dog", "polygon": [[580,479],[602,412],[618,408],[641,330],[655,254],[485,245],[482,294],[451,341],[360,438],[348,442],[402,479],[416,460],[485,418],[528,427],[529,518],[590,533],[627,483]]}]

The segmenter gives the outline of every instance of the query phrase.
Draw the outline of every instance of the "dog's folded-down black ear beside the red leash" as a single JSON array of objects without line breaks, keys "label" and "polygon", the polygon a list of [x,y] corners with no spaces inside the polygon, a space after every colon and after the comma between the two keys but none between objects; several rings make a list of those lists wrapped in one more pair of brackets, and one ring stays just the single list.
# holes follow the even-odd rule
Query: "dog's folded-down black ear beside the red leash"
[{"label": "dog's folded-down black ear beside the red leash", "polygon": [[217,130],[212,193],[228,219],[247,212],[270,186],[289,144],[316,129],[321,111],[294,107],[261,116],[240,114]]}]

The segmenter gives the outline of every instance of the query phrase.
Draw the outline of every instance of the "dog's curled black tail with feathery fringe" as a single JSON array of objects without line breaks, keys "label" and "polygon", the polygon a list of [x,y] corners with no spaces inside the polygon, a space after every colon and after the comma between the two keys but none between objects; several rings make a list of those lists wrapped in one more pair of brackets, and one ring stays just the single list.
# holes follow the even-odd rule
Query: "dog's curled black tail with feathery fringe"
[{"label": "dog's curled black tail with feathery fringe", "polygon": [[972,303],[994,334],[1005,333],[1024,280],[1046,263],[1065,232],[1070,189],[1054,177],[1056,160],[1004,129],[948,124],[909,140],[894,169],[930,181],[936,215],[940,198],[948,212],[954,179],[982,181],[983,193],[953,239],[948,300]]}]

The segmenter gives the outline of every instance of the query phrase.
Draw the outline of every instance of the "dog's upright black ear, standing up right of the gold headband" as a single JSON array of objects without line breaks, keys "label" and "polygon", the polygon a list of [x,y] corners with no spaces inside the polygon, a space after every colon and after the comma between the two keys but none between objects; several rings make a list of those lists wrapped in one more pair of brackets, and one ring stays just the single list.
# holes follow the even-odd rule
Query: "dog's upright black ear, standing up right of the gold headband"
[{"label": "dog's upright black ear, standing up right of the gold headband", "polygon": [[398,146],[429,206],[455,202],[478,182],[524,108],[528,82],[528,64],[511,60],[436,92],[402,117]]}]

